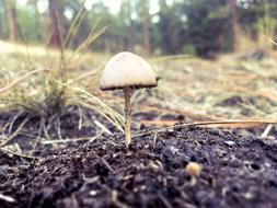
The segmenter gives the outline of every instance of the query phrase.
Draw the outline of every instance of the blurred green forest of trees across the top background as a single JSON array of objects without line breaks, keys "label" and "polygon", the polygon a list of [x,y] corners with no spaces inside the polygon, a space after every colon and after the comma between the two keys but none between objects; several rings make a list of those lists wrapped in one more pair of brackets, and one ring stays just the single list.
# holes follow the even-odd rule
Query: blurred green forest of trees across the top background
[{"label": "blurred green forest of trees across the top background", "polygon": [[209,58],[274,49],[277,31],[277,0],[0,0],[0,39],[59,47],[77,15],[70,47],[106,26],[90,47],[101,53]]}]

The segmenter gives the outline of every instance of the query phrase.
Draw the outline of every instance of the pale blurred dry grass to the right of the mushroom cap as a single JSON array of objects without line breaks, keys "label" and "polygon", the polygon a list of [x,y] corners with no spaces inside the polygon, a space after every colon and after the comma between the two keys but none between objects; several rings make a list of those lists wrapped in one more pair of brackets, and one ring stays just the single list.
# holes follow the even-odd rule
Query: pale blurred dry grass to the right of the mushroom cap
[{"label": "pale blurred dry grass to the right of the mushroom cap", "polygon": [[238,60],[230,56],[216,62],[187,60],[178,67],[172,61],[165,69],[160,66],[162,77],[166,77],[160,92],[168,92],[172,106],[203,115],[276,118],[276,63],[273,59]]}]

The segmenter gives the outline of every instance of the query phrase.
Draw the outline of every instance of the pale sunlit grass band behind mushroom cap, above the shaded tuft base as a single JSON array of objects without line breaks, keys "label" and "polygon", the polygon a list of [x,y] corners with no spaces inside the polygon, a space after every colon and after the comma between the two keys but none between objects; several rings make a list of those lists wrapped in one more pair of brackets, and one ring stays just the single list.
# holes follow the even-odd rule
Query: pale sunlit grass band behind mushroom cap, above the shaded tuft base
[{"label": "pale sunlit grass band behind mushroom cap, above the shaded tuft base", "polygon": [[[11,104],[23,103],[16,99],[31,100],[32,103],[34,103],[32,99],[43,100],[45,95],[42,92],[47,92],[48,88],[46,80],[49,73],[55,72],[53,68],[59,61],[59,56],[58,54],[55,56],[55,53],[50,53],[53,57],[46,56],[47,58],[35,56],[38,55],[36,53],[38,48],[34,48],[34,50],[30,48],[30,56],[25,57],[22,47],[19,47],[20,50],[1,55],[0,73],[3,77],[0,83],[1,89],[9,86],[9,84],[13,85],[12,83],[19,80],[19,83],[15,83],[7,92],[1,92],[1,111],[10,108]],[[38,50],[43,51],[43,48]],[[86,54],[82,59],[72,59],[68,63],[68,82],[56,82],[56,88],[70,89],[69,94],[67,94],[67,90],[65,93],[70,104],[76,103],[74,97],[79,97],[80,94],[86,99],[90,97],[89,94],[94,94],[100,95],[103,101],[107,97],[106,102],[113,106],[113,103],[117,103],[117,96],[97,90],[101,69],[107,59],[108,55],[97,54]],[[218,118],[269,119],[276,117],[277,78],[275,70],[277,62],[274,58],[255,61],[223,56],[218,61],[205,61],[189,57],[150,59],[149,61],[152,62],[153,68],[161,77],[159,88],[154,89],[151,96],[148,97],[150,106],[159,104],[159,108],[175,109],[178,113],[191,112]],[[33,74],[34,70],[38,70],[38,72]],[[26,78],[21,80],[22,77]],[[146,96],[145,92],[145,90],[136,92],[135,105]],[[51,91],[49,93],[55,94]],[[111,96],[114,100],[111,101]],[[222,104],[228,100],[232,102],[232,99],[239,101],[233,101],[233,105]],[[138,108],[140,106],[138,105]],[[141,107],[143,108],[143,106]]]}]

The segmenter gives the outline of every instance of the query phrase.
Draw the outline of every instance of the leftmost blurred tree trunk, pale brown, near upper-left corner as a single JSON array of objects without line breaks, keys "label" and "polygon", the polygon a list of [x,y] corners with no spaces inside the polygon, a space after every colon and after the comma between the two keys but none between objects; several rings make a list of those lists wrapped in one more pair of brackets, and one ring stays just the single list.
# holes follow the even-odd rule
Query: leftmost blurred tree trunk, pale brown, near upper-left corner
[{"label": "leftmost blurred tree trunk, pale brown, near upper-left corner", "polygon": [[14,0],[5,1],[5,12],[9,27],[9,39],[19,41],[18,13]]}]

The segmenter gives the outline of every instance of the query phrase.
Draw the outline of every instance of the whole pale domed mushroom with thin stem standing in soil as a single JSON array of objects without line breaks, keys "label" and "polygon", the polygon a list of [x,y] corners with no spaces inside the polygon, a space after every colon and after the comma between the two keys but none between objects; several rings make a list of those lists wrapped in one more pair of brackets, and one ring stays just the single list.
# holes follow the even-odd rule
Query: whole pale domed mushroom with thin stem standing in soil
[{"label": "whole pale domed mushroom with thin stem standing in soil", "polygon": [[131,142],[130,96],[132,89],[154,88],[158,79],[151,66],[139,56],[123,51],[109,59],[101,78],[101,90],[124,90],[125,96],[125,139]]}]

